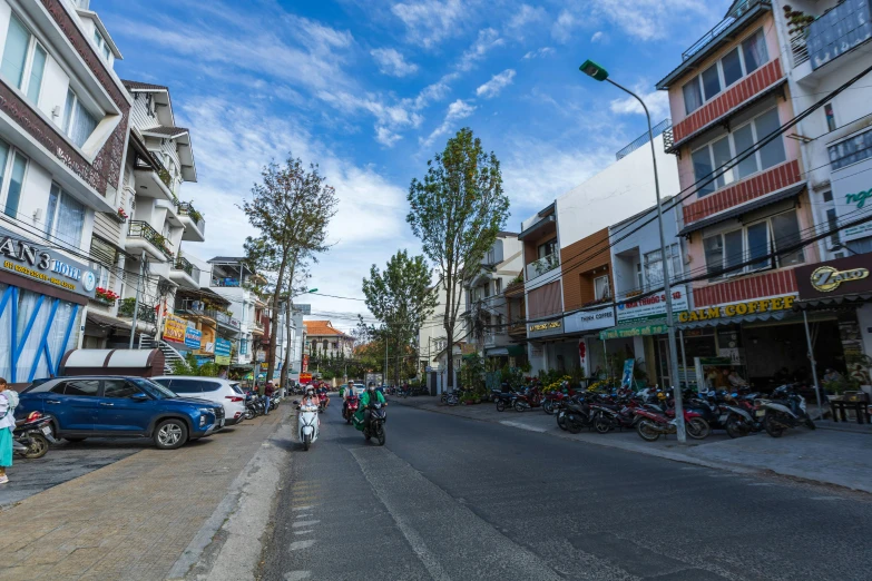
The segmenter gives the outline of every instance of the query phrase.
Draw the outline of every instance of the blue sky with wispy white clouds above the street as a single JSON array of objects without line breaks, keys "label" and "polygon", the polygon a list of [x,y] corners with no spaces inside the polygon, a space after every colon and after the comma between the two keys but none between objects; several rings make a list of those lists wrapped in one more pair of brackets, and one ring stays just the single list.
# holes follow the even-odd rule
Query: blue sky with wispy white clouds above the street
[{"label": "blue sky with wispy white clouds above the street", "polygon": [[[192,129],[199,181],[182,197],[203,208],[207,240],[187,252],[239,254],[252,232],[235,205],[264,164],[290,151],[320,164],[341,199],[312,285],[360,297],[371,264],[420,250],[405,193],[457,129],[471,127],[501,160],[507,228],[517,232],[645,129],[640,109],[584,77],[581,61],[637,89],[657,122],[668,104],[654,83],[729,3],[92,0],[91,9],[125,57],[119,76],[169,86],[177,122]],[[319,313],[363,309],[312,298]]]}]

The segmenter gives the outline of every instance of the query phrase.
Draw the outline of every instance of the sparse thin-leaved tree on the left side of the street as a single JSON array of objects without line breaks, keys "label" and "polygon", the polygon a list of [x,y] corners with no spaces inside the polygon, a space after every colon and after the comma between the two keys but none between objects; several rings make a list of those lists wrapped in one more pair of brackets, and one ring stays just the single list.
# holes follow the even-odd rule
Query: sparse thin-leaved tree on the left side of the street
[{"label": "sparse thin-leaved tree on the left side of the street", "polygon": [[[273,307],[283,292],[293,298],[293,282],[303,258],[317,262],[326,252],[327,225],[336,214],[339,199],[316,165],[303,166],[288,157],[284,166],[271,163],[261,173],[262,183],[252,188],[252,199],[242,209],[259,236],[248,237],[245,252],[256,269],[271,274]],[[275,312],[273,321],[277,321]],[[275,370],[276,333],[270,334],[266,376]]]}]

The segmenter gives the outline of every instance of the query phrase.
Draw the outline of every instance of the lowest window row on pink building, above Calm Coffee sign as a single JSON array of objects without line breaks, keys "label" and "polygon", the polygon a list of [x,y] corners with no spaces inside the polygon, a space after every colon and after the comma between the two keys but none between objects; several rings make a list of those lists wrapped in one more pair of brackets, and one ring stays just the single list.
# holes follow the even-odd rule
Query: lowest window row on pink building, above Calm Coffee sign
[{"label": "lowest window row on pink building, above Calm Coffee sign", "polygon": [[[734,276],[771,267],[803,264],[802,252],[784,249],[801,240],[796,210],[788,210],[733,232],[703,239],[705,263],[709,278]],[[770,257],[775,254],[775,259]],[[747,266],[736,268],[744,263]]]}]

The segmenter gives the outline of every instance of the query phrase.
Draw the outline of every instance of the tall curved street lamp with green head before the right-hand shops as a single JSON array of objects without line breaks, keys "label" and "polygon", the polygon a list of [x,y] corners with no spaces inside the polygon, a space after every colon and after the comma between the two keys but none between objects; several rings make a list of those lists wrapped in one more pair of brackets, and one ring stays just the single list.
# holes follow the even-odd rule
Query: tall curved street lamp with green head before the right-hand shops
[{"label": "tall curved street lamp with green head before the right-hand shops", "polygon": [[651,116],[648,112],[648,108],[645,106],[645,101],[639,98],[638,95],[621,87],[614,80],[608,78],[608,71],[594,62],[592,60],[586,60],[579,70],[597,81],[608,81],[618,89],[634,97],[641,105],[645,111],[645,117],[648,119],[648,140],[651,144],[651,160],[654,161],[654,189],[657,193],[657,225],[660,229],[660,255],[663,257],[663,289],[666,294],[666,329],[669,336],[669,375],[673,377],[674,392],[675,392],[675,424],[677,427],[678,442],[684,444],[686,442],[686,434],[684,427],[684,406],[682,405],[682,384],[678,381],[678,353],[675,349],[675,326],[673,324],[673,293],[672,284],[669,282],[669,259],[666,255],[666,236],[663,230],[663,206],[660,205],[660,183],[657,179],[657,155],[654,149],[654,131],[651,131]]}]

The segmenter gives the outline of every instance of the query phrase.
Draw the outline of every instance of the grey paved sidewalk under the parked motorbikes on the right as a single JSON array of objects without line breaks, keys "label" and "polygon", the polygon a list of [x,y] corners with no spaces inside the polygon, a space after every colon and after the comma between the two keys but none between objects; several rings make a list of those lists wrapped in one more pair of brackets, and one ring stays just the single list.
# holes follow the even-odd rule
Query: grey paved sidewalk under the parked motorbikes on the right
[{"label": "grey paved sidewalk under the parked motorbikes on the right", "polygon": [[493,404],[447,406],[437,397],[391,398],[392,403],[539,432],[555,437],[618,447],[746,474],[778,474],[872,493],[872,432],[851,426],[841,430],[788,430],[781,439],[765,433],[729,439],[718,430],[703,441],[678,445],[675,436],[643,441],[635,431],[570,434],[557,426],[555,416],[540,410],[497,412]]}]

